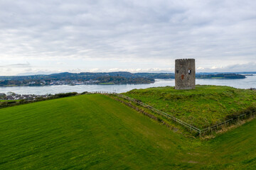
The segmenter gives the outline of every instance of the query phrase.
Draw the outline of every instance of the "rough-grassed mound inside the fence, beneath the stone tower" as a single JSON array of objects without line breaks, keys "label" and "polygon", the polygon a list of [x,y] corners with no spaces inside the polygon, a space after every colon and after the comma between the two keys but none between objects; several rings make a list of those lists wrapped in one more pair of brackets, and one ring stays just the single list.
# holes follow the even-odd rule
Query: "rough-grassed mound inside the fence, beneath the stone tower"
[{"label": "rough-grassed mound inside the fence, beneath the stone tower", "polygon": [[124,95],[174,115],[198,128],[223,122],[247,108],[256,108],[256,91],[228,86],[201,86],[194,90],[174,87],[134,89]]}]

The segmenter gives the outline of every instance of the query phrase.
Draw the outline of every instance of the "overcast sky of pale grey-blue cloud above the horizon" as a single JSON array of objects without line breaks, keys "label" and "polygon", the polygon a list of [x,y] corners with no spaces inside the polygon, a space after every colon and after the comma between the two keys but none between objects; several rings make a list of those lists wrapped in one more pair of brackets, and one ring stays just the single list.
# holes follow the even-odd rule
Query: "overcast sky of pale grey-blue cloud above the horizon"
[{"label": "overcast sky of pale grey-blue cloud above the horizon", "polygon": [[0,75],[256,71],[256,1],[0,0]]}]

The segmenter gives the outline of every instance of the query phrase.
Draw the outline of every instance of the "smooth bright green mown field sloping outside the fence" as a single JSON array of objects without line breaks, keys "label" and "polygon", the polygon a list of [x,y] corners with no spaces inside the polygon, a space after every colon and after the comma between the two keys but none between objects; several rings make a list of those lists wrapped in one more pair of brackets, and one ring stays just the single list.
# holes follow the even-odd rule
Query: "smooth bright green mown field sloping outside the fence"
[{"label": "smooth bright green mown field sloping outside the fence", "polygon": [[255,169],[255,130],[186,138],[107,96],[59,98],[0,109],[0,169]]}]

